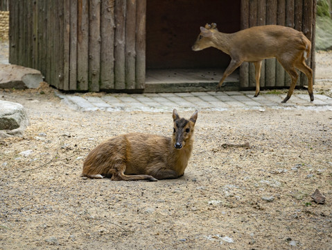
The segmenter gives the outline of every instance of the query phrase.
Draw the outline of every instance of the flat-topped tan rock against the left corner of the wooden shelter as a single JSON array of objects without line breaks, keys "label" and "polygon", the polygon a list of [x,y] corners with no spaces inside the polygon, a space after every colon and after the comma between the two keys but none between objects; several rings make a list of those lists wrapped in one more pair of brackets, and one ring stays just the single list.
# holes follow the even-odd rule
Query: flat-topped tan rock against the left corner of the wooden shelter
[{"label": "flat-topped tan rock against the left corner of the wooden shelter", "polygon": [[0,88],[38,88],[43,76],[37,69],[19,65],[0,65]]}]

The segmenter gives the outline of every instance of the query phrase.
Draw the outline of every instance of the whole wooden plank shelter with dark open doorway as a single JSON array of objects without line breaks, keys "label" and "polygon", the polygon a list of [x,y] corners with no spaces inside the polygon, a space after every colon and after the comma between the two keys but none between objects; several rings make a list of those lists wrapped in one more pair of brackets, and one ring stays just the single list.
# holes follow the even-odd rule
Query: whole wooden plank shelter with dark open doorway
[{"label": "whole wooden plank shelter with dark open doorway", "polygon": [[[313,42],[308,64],[315,69],[315,6],[316,0],[15,0],[10,63],[39,69],[60,90],[143,92],[154,72],[184,69],[188,76],[175,78],[198,79],[200,70],[225,69],[225,53],[191,50],[199,27],[216,22],[225,33],[265,24],[303,31]],[[253,67],[241,66],[238,88],[255,87]],[[261,73],[262,88],[290,83],[275,59],[265,60]],[[300,77],[298,85],[305,84]]]}]

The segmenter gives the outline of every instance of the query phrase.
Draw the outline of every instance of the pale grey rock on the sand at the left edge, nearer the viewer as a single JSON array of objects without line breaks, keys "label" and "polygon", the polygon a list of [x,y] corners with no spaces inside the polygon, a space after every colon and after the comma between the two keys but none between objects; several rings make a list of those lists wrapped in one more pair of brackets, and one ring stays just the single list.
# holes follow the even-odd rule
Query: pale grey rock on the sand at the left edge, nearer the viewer
[{"label": "pale grey rock on the sand at the left edge, nearer the viewer", "polygon": [[21,136],[28,125],[28,115],[21,104],[0,100],[0,138]]}]

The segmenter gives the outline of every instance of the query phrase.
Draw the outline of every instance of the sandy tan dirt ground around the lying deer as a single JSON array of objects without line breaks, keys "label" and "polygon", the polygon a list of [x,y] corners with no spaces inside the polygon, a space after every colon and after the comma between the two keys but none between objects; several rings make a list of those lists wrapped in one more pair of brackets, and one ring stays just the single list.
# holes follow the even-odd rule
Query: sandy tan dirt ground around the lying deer
[{"label": "sandy tan dirt ground around the lying deer", "polygon": [[[331,58],[317,53],[316,78],[332,79]],[[332,249],[332,111],[199,110],[182,178],[116,182],[81,178],[87,153],[171,135],[171,113],[82,113],[46,86],[0,99],[30,117],[24,138],[0,140],[0,249]]]}]

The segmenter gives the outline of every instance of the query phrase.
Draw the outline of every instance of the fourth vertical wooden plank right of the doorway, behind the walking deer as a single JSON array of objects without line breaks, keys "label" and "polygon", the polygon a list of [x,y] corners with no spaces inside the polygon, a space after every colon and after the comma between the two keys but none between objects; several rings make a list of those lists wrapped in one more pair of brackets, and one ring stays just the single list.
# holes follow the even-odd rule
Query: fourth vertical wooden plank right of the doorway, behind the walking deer
[{"label": "fourth vertical wooden plank right of the doorway, behind the walking deer", "polygon": [[[277,1],[275,0],[266,0],[266,24],[277,24]],[[275,85],[276,63],[275,58],[265,60],[265,87]]]}]

